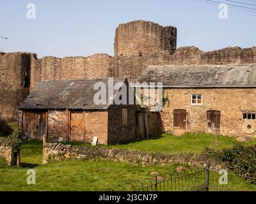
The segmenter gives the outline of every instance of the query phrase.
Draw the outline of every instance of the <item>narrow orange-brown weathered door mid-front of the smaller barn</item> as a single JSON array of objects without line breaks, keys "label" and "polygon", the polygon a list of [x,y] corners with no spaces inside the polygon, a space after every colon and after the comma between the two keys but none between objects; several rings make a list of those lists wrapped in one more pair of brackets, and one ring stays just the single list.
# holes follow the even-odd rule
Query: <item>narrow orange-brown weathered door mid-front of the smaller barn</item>
[{"label": "narrow orange-brown weathered door mid-front of the smaller barn", "polygon": [[84,135],[84,112],[70,113],[70,140],[83,142]]}]

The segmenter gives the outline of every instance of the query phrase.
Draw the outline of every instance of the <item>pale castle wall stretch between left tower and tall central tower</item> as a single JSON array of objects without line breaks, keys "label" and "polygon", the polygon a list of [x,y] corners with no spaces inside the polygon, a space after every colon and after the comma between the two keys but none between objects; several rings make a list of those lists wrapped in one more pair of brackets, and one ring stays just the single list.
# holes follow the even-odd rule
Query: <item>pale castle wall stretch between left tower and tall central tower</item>
[{"label": "pale castle wall stretch between left tower and tall central tower", "polygon": [[31,64],[31,89],[41,80],[107,78],[113,58],[107,54],[89,57],[43,57]]}]

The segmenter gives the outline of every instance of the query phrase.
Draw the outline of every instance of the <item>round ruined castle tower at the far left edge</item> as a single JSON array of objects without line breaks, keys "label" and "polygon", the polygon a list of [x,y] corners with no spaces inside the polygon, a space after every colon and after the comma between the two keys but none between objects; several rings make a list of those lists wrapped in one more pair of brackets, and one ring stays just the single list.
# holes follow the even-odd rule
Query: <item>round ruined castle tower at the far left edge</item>
[{"label": "round ruined castle tower at the far left edge", "polygon": [[0,55],[0,119],[18,120],[16,106],[29,94],[29,53]]}]

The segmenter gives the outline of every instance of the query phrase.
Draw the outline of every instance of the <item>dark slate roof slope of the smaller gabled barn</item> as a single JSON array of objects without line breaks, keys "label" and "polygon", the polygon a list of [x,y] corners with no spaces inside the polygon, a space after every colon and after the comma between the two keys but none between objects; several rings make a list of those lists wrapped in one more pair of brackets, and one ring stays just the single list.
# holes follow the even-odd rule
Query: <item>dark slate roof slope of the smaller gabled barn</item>
[{"label": "dark slate roof slope of the smaller gabled barn", "polygon": [[[18,108],[106,110],[108,104],[95,105],[93,101],[95,93],[99,91],[93,90],[93,86],[97,82],[106,84],[108,93],[108,80],[44,80],[31,91]],[[127,80],[124,78],[114,79],[114,85],[117,82],[127,83]],[[116,92],[114,92],[114,96]],[[108,103],[108,94],[106,96]]]}]

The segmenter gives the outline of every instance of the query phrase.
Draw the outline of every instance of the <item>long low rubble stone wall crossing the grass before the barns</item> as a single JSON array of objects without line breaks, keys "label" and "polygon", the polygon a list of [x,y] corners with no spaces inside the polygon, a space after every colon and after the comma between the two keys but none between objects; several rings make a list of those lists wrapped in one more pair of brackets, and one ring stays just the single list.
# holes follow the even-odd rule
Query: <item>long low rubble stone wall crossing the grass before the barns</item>
[{"label": "long low rubble stone wall crossing the grass before the barns", "polygon": [[211,164],[211,168],[221,168],[220,163],[216,163],[201,154],[163,154],[148,153],[136,150],[110,149],[107,147],[79,147],[63,145],[61,143],[45,143],[43,150],[43,164],[76,159],[109,159],[121,163],[141,163],[141,164],[189,164],[192,166],[205,166]]}]

